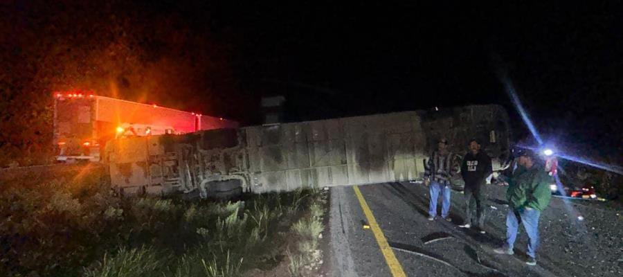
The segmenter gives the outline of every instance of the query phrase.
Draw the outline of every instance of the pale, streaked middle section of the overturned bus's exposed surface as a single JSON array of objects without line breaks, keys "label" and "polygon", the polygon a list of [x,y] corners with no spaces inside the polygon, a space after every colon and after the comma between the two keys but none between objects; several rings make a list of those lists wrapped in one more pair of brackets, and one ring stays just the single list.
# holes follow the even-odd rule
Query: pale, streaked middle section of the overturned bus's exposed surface
[{"label": "pale, streaked middle section of the overturned bus's exposed surface", "polygon": [[244,129],[258,193],[404,181],[424,171],[415,111]]}]

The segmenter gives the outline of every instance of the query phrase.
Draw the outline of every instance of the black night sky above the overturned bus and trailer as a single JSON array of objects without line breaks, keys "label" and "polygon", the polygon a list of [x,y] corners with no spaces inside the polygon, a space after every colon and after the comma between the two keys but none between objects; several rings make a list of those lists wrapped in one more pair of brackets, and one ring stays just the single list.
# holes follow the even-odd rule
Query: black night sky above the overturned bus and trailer
[{"label": "black night sky above the overturned bus and trailer", "polygon": [[[499,79],[505,73],[543,136],[620,153],[620,3],[500,2],[422,1],[395,6],[334,1],[110,1],[101,12],[91,3],[72,10],[69,5],[46,6],[45,1],[13,1],[3,10],[15,15],[9,24],[17,27],[3,29],[19,35],[21,28],[29,28],[36,38],[37,25],[31,22],[41,21],[42,26],[56,24],[50,30],[60,30],[60,38],[63,32],[74,32],[73,41],[71,36],[68,41],[80,44],[76,34],[85,32],[74,29],[82,24],[89,30],[92,23],[84,18],[94,17],[98,26],[106,26],[108,21],[124,22],[119,19],[127,17],[130,23],[121,25],[126,26],[123,32],[98,30],[122,40],[131,37],[125,41],[145,51],[138,59],[143,64],[177,70],[177,75],[152,69],[145,74],[163,77],[165,83],[179,82],[182,89],[168,89],[168,98],[161,92],[147,98],[121,96],[224,116],[245,125],[262,123],[260,98],[271,95],[287,98],[287,121],[496,103],[514,118],[517,136],[525,136]],[[57,17],[74,10],[78,10],[75,15],[68,15],[72,20]],[[38,20],[41,17],[50,19]],[[141,28],[133,30],[135,25]],[[30,43],[22,40],[21,44]],[[85,47],[101,44],[93,41]],[[195,55],[198,62],[192,61]],[[120,72],[116,82],[127,90],[149,80],[126,79]],[[189,83],[197,85],[186,86]]]}]

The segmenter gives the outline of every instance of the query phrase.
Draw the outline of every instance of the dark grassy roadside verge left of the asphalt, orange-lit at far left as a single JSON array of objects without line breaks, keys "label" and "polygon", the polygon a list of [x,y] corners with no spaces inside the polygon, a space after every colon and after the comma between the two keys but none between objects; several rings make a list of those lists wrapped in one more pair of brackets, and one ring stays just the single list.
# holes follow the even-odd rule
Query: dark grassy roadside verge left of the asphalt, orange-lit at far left
[{"label": "dark grassy roadside verge left of the asphalt, orange-lit at far left", "polygon": [[0,186],[3,276],[241,276],[281,262],[302,215],[303,250],[318,247],[323,227],[310,219],[322,216],[319,190],[233,203],[120,197],[102,173]]}]

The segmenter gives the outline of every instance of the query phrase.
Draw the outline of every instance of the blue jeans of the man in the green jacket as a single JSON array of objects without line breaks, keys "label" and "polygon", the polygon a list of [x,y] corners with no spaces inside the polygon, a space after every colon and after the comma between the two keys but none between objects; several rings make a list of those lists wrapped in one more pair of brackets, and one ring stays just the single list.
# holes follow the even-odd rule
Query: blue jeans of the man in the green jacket
[{"label": "blue jeans of the man in the green jacket", "polygon": [[519,229],[519,220],[523,223],[523,229],[528,235],[527,255],[536,258],[536,249],[539,248],[539,217],[541,212],[534,209],[522,209],[521,211],[513,208],[509,209],[506,215],[506,243],[508,249],[513,249]]}]

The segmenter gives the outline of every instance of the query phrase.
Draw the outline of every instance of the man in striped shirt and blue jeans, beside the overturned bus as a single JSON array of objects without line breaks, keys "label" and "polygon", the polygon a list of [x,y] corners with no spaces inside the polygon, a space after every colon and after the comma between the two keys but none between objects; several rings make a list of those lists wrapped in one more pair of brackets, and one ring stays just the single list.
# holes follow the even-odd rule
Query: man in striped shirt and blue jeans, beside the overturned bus
[{"label": "man in striped shirt and blue jeans, beside the overturned bus", "polygon": [[442,199],[442,217],[451,222],[450,212],[450,177],[453,170],[453,154],[448,151],[448,140],[440,139],[437,143],[437,150],[433,151],[431,157],[424,166],[424,184],[428,186],[431,194],[431,201],[428,204],[428,220],[435,220],[437,216],[437,199],[440,192]]}]

